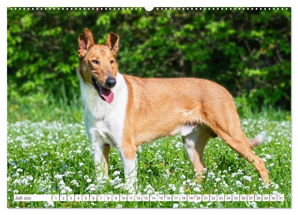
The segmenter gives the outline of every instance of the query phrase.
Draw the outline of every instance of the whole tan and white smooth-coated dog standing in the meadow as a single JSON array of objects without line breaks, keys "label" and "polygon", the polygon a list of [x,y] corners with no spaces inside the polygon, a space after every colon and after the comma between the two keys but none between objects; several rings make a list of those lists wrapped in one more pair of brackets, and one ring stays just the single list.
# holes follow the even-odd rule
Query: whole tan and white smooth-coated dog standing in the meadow
[{"label": "whole tan and white smooth-coated dog standing in the meadow", "polygon": [[265,139],[265,132],[252,140],[246,138],[233,97],[225,88],[204,79],[121,75],[115,58],[118,41],[110,33],[106,45],[95,45],[90,30],[79,35],[78,77],[95,165],[102,166],[107,175],[110,147],[116,147],[126,183],[133,184],[137,148],[180,133],[199,174],[205,167],[203,150],[208,139],[219,136],[269,183],[264,162],[251,151]]}]

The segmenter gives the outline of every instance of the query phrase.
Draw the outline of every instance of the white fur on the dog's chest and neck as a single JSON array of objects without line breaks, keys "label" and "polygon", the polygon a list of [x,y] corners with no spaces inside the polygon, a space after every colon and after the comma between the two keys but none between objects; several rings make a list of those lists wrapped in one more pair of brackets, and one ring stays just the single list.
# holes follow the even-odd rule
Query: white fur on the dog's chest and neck
[{"label": "white fur on the dog's chest and neck", "polygon": [[91,143],[113,147],[122,144],[128,91],[122,75],[117,74],[116,80],[117,84],[112,88],[114,100],[110,104],[99,97],[93,86],[81,82],[84,120]]}]

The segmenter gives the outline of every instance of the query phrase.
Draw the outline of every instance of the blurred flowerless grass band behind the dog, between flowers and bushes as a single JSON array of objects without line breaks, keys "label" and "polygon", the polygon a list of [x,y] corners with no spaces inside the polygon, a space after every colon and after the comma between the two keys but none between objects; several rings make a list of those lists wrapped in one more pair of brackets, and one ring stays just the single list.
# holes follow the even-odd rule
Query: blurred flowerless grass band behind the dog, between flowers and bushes
[{"label": "blurred flowerless grass band behind the dog, between flowers and bushes", "polygon": [[[59,90],[65,92],[63,87]],[[71,99],[65,95],[57,99],[50,94],[17,96],[17,99],[14,97],[10,96],[7,99],[7,121],[10,123],[24,120],[30,120],[31,122],[46,120],[64,123],[80,123],[83,121],[83,107],[79,94],[75,94]],[[250,106],[244,98],[236,97],[234,100],[241,118],[259,119],[263,117],[274,121],[291,120],[290,111],[274,108],[271,104],[256,108],[256,104]]]}]

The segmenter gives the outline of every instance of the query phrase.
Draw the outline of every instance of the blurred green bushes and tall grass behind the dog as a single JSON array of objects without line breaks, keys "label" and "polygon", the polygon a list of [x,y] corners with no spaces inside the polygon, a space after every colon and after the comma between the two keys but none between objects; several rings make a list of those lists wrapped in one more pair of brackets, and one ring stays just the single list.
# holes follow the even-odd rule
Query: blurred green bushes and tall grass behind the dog
[{"label": "blurred green bushes and tall grass behind the dog", "polygon": [[111,32],[120,36],[120,73],[213,80],[231,92],[242,115],[290,111],[290,10],[8,8],[8,121],[81,120],[76,68],[85,28],[98,44]]}]

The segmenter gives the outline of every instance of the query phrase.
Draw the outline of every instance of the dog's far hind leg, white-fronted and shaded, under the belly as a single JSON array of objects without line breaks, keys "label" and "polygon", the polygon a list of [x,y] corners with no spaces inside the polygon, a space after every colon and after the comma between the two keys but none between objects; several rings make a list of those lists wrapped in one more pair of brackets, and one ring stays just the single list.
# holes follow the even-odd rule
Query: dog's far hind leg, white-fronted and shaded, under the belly
[{"label": "dog's far hind leg, white-fronted and shaded, under the belly", "polygon": [[[203,160],[203,151],[210,138],[209,127],[201,125],[196,127],[190,134],[182,136],[183,145],[191,162],[195,174],[203,173],[205,163]],[[196,181],[200,182],[201,176]]]}]

